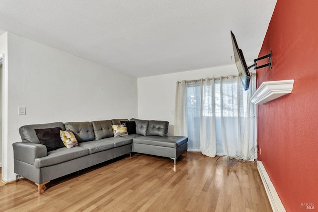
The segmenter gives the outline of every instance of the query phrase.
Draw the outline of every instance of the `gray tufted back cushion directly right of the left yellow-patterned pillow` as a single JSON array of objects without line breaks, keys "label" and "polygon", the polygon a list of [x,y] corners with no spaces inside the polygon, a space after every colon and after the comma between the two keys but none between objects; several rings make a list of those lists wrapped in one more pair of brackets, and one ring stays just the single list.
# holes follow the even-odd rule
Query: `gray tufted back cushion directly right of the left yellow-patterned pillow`
[{"label": "gray tufted back cushion directly right of the left yellow-patterned pillow", "polygon": [[75,135],[78,142],[95,140],[94,128],[91,122],[66,122],[65,129]]}]

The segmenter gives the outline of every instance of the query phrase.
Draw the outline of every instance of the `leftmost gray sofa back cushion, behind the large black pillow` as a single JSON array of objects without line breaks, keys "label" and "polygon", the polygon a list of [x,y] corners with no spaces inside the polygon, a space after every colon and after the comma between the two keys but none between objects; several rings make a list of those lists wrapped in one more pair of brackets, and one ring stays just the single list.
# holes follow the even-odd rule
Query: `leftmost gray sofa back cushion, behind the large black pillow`
[{"label": "leftmost gray sofa back cushion, behind the large black pillow", "polygon": [[21,126],[19,128],[19,133],[21,135],[22,142],[40,143],[34,129],[46,129],[54,127],[61,127],[62,130],[65,130],[64,123],[54,122],[46,124],[30,124]]}]

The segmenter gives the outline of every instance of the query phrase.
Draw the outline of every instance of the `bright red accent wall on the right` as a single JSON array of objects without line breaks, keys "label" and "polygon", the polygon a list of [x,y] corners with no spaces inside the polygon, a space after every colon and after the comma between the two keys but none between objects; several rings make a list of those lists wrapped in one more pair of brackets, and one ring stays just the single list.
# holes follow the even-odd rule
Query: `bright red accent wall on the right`
[{"label": "bright red accent wall on the right", "polygon": [[270,50],[273,67],[257,70],[257,87],[295,83],[291,94],[257,107],[258,159],[286,211],[304,203],[318,211],[318,0],[277,0],[259,56]]}]

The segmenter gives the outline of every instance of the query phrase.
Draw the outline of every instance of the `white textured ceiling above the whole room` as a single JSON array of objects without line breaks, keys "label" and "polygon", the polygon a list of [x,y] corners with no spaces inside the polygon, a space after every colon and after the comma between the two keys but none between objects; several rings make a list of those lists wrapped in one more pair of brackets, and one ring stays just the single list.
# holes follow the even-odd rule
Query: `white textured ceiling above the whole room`
[{"label": "white textured ceiling above the whole room", "polygon": [[257,58],[277,0],[0,0],[0,33],[135,77]]}]

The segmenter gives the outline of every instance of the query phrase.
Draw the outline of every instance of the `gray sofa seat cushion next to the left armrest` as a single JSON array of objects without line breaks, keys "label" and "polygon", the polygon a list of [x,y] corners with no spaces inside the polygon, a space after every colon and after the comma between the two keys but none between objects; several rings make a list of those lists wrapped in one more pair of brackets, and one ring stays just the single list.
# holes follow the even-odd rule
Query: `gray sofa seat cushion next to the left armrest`
[{"label": "gray sofa seat cushion next to the left armrest", "polygon": [[55,164],[70,161],[79,157],[83,157],[89,154],[89,150],[79,146],[75,146],[71,149],[66,147],[59,148],[48,152],[48,155],[42,158],[36,158],[34,161],[34,166],[36,168],[52,166]]}]

